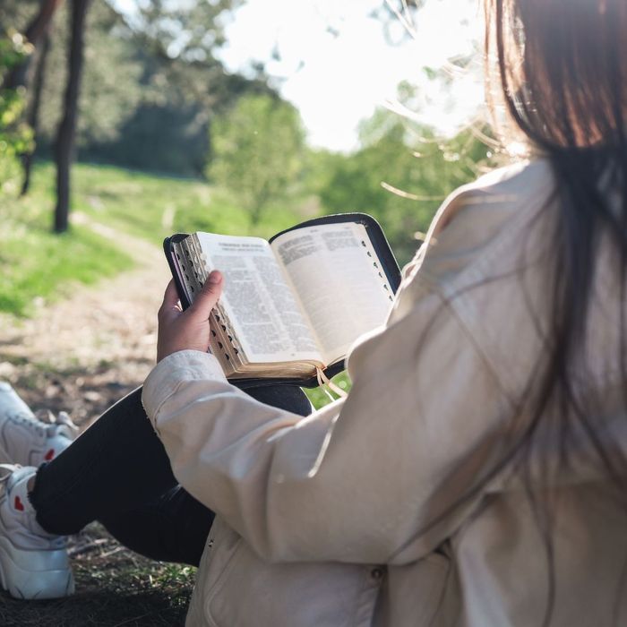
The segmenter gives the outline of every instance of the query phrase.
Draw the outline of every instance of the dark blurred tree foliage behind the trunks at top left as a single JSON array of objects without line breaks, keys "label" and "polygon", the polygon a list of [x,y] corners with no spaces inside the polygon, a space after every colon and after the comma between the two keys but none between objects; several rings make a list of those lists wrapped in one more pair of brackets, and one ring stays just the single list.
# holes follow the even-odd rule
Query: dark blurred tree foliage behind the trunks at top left
[{"label": "dark blurred tree foliage behind the trunks at top left", "polygon": [[[94,0],[76,143],[79,159],[202,176],[211,117],[243,93],[272,93],[260,71],[225,72],[216,56],[225,16],[241,0],[146,0],[119,13]],[[56,12],[41,96],[38,150],[49,154],[63,115],[70,3]],[[27,28],[40,0],[2,0],[2,21]]]}]

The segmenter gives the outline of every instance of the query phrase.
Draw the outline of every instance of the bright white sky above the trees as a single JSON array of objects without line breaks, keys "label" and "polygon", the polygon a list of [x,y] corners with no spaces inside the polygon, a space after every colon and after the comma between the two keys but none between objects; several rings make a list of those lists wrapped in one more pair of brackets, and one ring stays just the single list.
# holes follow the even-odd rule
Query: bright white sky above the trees
[{"label": "bright white sky above the trees", "polygon": [[[369,16],[385,1],[246,0],[227,21],[228,44],[219,57],[232,72],[263,62],[283,98],[300,111],[315,147],[354,150],[360,120],[395,99],[401,81],[417,85],[422,94],[420,121],[453,133],[483,101],[481,61],[446,90],[429,82],[423,68],[441,67],[477,48],[477,0],[426,0],[414,37],[398,45],[391,45],[382,22]],[[135,2],[116,4],[132,11]],[[392,23],[396,39],[401,28]]]}]

